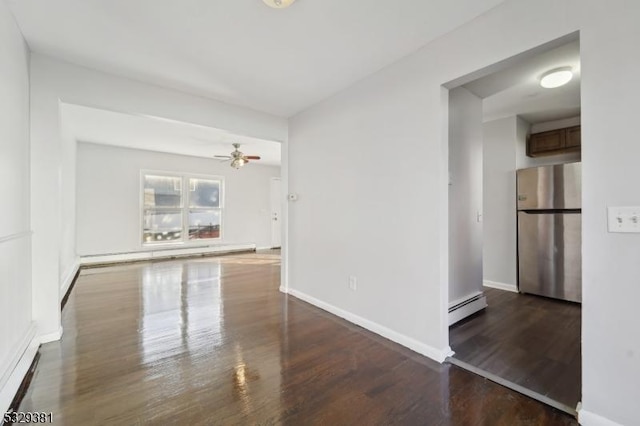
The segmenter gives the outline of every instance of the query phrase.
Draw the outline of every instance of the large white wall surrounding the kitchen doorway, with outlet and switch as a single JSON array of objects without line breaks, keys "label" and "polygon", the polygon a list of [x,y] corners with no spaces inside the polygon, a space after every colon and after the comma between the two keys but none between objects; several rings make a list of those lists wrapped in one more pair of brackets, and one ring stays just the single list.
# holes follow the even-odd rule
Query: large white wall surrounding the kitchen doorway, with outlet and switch
[{"label": "large white wall surrounding the kitchen doorway, with outlet and switch", "polygon": [[[636,423],[640,236],[608,234],[605,213],[608,205],[640,205],[637,179],[629,178],[640,158],[638,19],[640,2],[631,0],[507,1],[293,117],[289,181],[300,198],[289,212],[291,290],[381,325],[398,341],[418,342],[430,356],[446,353],[448,108],[441,86],[579,30],[581,421]],[[359,277],[356,292],[348,289],[350,274]]]}]

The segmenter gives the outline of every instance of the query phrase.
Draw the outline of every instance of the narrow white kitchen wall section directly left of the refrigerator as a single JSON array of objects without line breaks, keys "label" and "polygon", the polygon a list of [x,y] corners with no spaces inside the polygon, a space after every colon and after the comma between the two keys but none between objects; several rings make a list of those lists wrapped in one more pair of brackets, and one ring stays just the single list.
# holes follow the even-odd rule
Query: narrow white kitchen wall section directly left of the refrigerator
[{"label": "narrow white kitchen wall section directly left of the refrigerator", "polygon": [[516,135],[517,117],[483,124],[483,277],[516,287]]}]

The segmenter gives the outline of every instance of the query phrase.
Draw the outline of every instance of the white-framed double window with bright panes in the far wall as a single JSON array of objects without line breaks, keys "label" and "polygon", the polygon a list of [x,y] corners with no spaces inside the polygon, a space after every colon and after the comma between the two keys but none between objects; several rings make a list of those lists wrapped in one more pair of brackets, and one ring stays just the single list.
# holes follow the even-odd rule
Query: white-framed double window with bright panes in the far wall
[{"label": "white-framed double window with bright panes in the far wall", "polygon": [[219,239],[221,178],[142,174],[142,242],[161,244]]}]

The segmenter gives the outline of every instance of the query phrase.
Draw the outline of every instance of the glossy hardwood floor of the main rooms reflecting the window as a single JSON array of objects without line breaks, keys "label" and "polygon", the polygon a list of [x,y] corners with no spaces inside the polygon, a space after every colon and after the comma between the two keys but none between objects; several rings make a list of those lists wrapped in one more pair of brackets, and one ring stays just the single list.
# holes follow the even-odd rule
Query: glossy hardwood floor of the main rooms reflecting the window
[{"label": "glossy hardwood floor of the main rooms reflecting the window", "polygon": [[576,425],[278,292],[279,257],[83,270],[20,410],[58,425]]}]

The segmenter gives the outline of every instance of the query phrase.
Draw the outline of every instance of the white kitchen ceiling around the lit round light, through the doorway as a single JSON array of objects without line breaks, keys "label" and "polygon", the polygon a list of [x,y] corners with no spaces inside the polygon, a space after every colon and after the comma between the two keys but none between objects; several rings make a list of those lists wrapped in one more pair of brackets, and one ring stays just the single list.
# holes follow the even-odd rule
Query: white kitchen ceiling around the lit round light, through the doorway
[{"label": "white kitchen ceiling around the lit round light, through the doorway", "polygon": [[[574,77],[555,89],[540,86],[540,76],[571,66]],[[464,85],[483,98],[484,121],[518,115],[531,124],[580,115],[580,44],[575,40],[523,59],[504,70]]]}]

